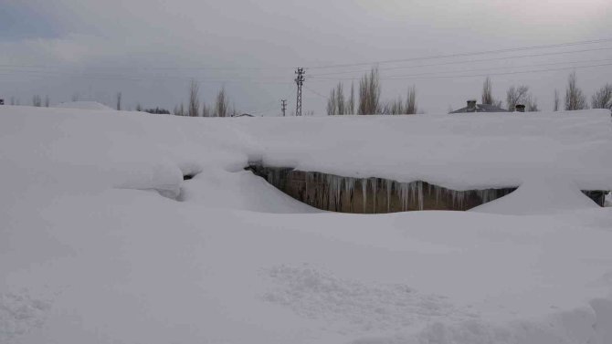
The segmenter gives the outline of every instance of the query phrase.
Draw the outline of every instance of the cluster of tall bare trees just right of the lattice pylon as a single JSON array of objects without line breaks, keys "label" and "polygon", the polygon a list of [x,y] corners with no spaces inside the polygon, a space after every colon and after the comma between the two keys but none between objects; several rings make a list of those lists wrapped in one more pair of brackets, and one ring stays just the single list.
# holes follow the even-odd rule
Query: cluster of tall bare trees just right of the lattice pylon
[{"label": "cluster of tall bare trees just right of the lattice pylon", "polygon": [[[358,99],[355,99],[354,84],[351,83],[351,93],[349,98],[344,97],[343,84],[338,83],[330,92],[330,97],[327,99],[327,114],[334,115],[411,115],[417,113],[417,89],[413,86],[408,89],[406,101],[404,99],[396,99],[393,101],[381,103],[381,84],[380,76],[377,68],[372,68],[369,73],[365,74],[359,81]],[[355,101],[359,104],[355,108]]]}]

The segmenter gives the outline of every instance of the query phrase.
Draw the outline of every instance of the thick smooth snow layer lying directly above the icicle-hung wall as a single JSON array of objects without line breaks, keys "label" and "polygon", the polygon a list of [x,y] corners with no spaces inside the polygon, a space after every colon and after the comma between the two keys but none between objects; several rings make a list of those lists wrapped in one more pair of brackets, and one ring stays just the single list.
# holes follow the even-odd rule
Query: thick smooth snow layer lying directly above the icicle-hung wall
[{"label": "thick smooth snow layer lying directly above the icicle-hung wall", "polygon": [[245,119],[265,165],[453,190],[518,186],[563,175],[609,190],[609,111]]}]

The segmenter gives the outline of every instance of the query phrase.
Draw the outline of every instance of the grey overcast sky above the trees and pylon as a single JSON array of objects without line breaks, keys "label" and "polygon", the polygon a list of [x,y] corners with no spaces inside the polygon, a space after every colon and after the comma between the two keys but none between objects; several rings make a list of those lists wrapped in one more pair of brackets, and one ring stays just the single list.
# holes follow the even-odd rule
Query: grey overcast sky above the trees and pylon
[{"label": "grey overcast sky above the trees and pylon", "polygon": [[[338,81],[350,89],[375,62],[406,59],[377,64],[383,99],[415,85],[420,109],[447,112],[480,99],[491,74],[498,99],[525,84],[552,109],[568,68],[608,64],[575,69],[589,98],[612,83],[612,41],[414,58],[612,38],[610,17],[609,0],[0,0],[0,98],[112,105],[121,91],[125,108],[172,109],[195,78],[208,103],[225,86],[240,111],[278,115],[280,99],[294,109],[293,69],[306,67],[303,109],[322,114]],[[371,64],[316,68],[360,63]]]}]

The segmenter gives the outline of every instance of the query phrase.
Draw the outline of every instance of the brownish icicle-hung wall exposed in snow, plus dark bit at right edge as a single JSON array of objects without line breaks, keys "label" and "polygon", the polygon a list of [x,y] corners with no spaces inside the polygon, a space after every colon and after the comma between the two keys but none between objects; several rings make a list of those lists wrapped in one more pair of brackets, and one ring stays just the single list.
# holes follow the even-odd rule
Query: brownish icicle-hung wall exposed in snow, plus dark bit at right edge
[{"label": "brownish icicle-hung wall exposed in snow, plus dark bit at right edge", "polygon": [[[397,182],[384,178],[353,178],[290,167],[251,163],[245,168],[281,192],[315,208],[352,214],[388,214],[422,210],[467,211],[499,199],[516,186],[475,190],[452,190],[425,181]],[[600,206],[605,192],[584,191]]]}]

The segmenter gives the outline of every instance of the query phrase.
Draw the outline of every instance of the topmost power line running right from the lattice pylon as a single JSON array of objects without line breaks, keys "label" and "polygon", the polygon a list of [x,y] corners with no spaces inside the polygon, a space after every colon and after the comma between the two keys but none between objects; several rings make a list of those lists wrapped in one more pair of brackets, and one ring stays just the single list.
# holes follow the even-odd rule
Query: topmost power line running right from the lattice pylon
[{"label": "topmost power line running right from the lattice pylon", "polygon": [[470,57],[470,56],[488,55],[488,54],[501,54],[501,53],[508,53],[508,52],[512,52],[512,51],[546,49],[546,48],[553,48],[553,47],[582,46],[582,45],[587,45],[587,44],[605,43],[605,42],[610,42],[610,41],[612,41],[612,38],[592,39],[592,40],[586,40],[586,41],[577,41],[577,42],[559,43],[559,44],[549,44],[549,45],[541,45],[541,46],[511,47],[511,48],[504,48],[504,49],[497,49],[497,50],[473,51],[473,52],[469,52],[469,53],[456,53],[456,54],[447,54],[447,55],[432,55],[432,56],[426,56],[426,57],[398,58],[398,59],[388,59],[388,60],[381,60],[381,61],[347,63],[347,64],[337,64],[337,65],[327,65],[327,66],[312,66],[312,67],[309,67],[309,69],[327,69],[327,68],[344,68],[344,67],[356,67],[356,66],[371,66],[371,65],[380,65],[380,64],[385,64],[385,63],[421,61],[421,60],[427,60],[427,59],[439,59],[439,58],[449,58],[449,57]]}]

